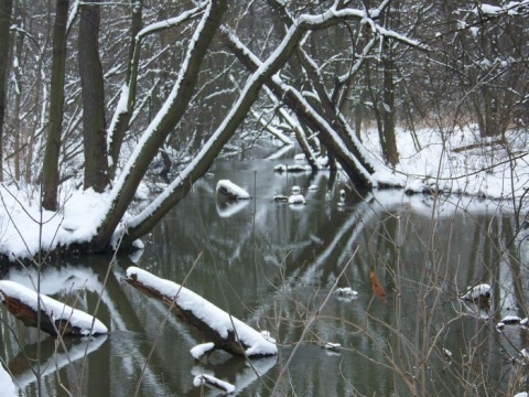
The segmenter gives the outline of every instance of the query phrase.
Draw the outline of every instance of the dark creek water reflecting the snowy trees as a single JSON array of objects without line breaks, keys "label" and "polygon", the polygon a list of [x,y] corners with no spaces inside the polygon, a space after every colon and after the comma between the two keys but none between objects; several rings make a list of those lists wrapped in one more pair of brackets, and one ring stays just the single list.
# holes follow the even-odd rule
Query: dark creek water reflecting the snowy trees
[{"label": "dark creek water reflecting the snowy trees", "polygon": [[[505,315],[526,316],[529,280],[500,203],[359,193],[339,172],[273,172],[293,162],[284,159],[294,150],[278,154],[257,141],[236,159],[217,160],[145,238],[145,249],[119,255],[112,267],[101,256],[46,267],[43,292],[90,313],[98,307],[110,333],[60,344],[2,307],[1,356],[20,395],[37,395],[28,357],[39,350],[44,396],[220,395],[193,385],[203,373],[235,385],[240,396],[477,396],[504,395],[517,382],[522,387],[519,352],[529,331],[497,324]],[[218,196],[220,179],[251,200]],[[305,205],[273,200],[293,186]],[[123,282],[129,266],[185,280],[270,331],[278,356],[248,362],[215,352],[194,361],[190,348],[206,341]],[[374,294],[371,271],[385,298]],[[7,278],[29,285],[21,269]],[[483,282],[493,289],[486,305],[458,299]],[[334,293],[335,286],[357,296]],[[327,342],[339,348],[323,348]]]}]

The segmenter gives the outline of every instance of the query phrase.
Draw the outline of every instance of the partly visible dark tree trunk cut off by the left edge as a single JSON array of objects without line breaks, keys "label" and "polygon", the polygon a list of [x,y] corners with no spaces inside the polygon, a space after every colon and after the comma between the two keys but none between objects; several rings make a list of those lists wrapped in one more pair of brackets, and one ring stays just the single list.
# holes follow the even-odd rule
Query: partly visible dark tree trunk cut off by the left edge
[{"label": "partly visible dark tree trunk cut off by the left edge", "polygon": [[0,1],[0,182],[3,181],[3,119],[6,117],[6,93],[9,69],[9,28],[11,25],[11,12],[13,0]]}]

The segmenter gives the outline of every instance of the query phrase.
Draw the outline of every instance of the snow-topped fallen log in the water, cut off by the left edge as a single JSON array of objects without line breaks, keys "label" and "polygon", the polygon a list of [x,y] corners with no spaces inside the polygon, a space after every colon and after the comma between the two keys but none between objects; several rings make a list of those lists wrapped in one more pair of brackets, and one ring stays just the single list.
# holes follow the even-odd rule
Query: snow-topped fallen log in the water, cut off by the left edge
[{"label": "snow-topped fallen log in the water, cut off by the left edge", "polygon": [[[0,280],[0,299],[26,326],[37,328],[37,293],[14,281]],[[108,329],[95,316],[40,294],[41,330],[51,335],[98,335]]]}]

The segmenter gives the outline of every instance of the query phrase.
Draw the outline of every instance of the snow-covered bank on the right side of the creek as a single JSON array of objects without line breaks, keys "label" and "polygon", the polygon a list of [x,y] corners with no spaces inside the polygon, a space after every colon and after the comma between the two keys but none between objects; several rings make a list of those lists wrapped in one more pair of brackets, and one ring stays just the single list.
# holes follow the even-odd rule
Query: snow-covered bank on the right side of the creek
[{"label": "snow-covered bank on the right side of the creek", "polygon": [[[443,136],[438,130],[397,131],[400,162],[392,174],[375,173],[379,183],[403,181],[404,190],[432,190],[487,198],[520,197],[529,181],[529,137],[526,131],[508,132],[506,142],[481,139],[475,127]],[[381,159],[379,136],[363,135],[366,148]],[[419,143],[419,144],[417,144]]]}]

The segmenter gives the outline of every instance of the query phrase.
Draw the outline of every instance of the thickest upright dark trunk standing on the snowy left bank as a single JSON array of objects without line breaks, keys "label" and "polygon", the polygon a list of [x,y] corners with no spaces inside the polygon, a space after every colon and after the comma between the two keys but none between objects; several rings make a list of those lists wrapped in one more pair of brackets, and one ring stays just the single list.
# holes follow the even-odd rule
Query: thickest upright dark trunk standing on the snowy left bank
[{"label": "thickest upright dark trunk standing on the snowy left bank", "polygon": [[[84,187],[102,192],[108,185],[105,90],[99,60],[101,0],[80,6],[78,62],[83,92],[83,138],[85,152]],[[94,4],[96,3],[96,4]]]}]

